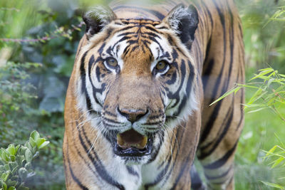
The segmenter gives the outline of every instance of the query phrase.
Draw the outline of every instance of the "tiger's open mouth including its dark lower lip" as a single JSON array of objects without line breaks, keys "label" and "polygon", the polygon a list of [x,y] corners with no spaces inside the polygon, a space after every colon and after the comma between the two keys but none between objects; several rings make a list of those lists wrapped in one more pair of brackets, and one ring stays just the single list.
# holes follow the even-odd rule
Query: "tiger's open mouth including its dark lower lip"
[{"label": "tiger's open mouth including its dark lower lip", "polygon": [[120,157],[142,157],[152,151],[152,137],[144,136],[135,130],[117,134],[115,154]]}]

